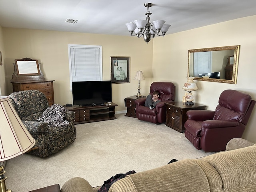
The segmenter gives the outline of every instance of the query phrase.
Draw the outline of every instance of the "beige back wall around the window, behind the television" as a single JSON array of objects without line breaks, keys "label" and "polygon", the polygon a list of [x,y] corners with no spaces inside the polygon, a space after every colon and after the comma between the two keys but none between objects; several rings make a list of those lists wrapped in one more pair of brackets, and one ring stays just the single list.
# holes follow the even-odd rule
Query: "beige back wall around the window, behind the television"
[{"label": "beige back wall around the window, behind the television", "polygon": [[[148,94],[152,72],[152,46],[143,39],[130,36],[110,36],[48,30],[3,28],[6,51],[6,82],[12,92],[14,59],[38,59],[44,77],[54,81],[54,100],[57,104],[72,103],[68,63],[68,44],[102,45],[103,79],[110,80],[110,56],[130,56],[130,83],[112,84],[112,100],[116,111],[126,110],[124,98],[137,94],[136,71],[142,70],[146,80],[141,81],[141,93]],[[89,90],[88,90],[89,92]]]}]

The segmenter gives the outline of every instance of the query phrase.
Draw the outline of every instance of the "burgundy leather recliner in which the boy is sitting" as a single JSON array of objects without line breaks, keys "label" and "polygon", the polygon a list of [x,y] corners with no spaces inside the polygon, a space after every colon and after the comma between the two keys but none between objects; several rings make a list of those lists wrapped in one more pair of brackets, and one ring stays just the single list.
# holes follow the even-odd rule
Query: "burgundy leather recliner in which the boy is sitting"
[{"label": "burgundy leather recliner in which the boy is sitting", "polygon": [[165,102],[173,102],[175,100],[175,85],[172,82],[153,82],[150,86],[150,93],[159,92],[161,102],[156,104],[156,108],[150,110],[145,107],[146,98],[135,100],[136,117],[139,120],[148,121],[154,124],[166,122],[166,104]]}]

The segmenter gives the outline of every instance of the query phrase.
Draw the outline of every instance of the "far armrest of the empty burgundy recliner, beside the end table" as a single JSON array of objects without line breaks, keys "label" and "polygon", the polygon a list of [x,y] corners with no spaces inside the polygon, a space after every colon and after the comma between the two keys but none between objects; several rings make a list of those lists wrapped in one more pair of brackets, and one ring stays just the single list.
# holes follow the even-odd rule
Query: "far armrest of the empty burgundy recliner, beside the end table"
[{"label": "far armrest of the empty burgundy recliner, beside the end table", "polygon": [[200,120],[200,121],[205,121],[205,120],[211,120],[214,117],[215,111],[212,110],[189,110],[187,111],[187,116],[188,119],[192,120]]}]

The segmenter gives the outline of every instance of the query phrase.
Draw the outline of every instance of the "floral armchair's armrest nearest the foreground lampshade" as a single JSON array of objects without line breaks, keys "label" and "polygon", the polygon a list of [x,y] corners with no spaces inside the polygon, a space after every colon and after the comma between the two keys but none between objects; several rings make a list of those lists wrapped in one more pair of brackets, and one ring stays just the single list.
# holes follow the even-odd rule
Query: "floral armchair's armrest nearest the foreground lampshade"
[{"label": "floral armchair's armrest nearest the foreground lampshade", "polygon": [[40,121],[22,121],[30,134],[47,133],[48,124]]}]

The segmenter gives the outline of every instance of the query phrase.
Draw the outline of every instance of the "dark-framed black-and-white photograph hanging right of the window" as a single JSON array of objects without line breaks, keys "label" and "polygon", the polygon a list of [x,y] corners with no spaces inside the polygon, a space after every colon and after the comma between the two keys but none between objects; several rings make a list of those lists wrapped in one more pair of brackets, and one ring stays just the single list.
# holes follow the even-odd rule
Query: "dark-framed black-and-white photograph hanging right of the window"
[{"label": "dark-framed black-and-white photograph hanging right of the window", "polygon": [[130,83],[130,57],[110,56],[111,82]]}]

